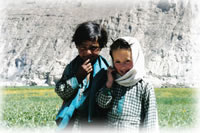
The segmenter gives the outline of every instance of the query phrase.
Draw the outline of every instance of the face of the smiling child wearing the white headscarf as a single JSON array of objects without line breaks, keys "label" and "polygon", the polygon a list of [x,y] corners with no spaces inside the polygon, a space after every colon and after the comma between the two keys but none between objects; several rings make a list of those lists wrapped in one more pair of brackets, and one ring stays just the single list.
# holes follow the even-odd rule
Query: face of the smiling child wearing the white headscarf
[{"label": "face of the smiling child wearing the white headscarf", "polygon": [[126,74],[133,67],[130,49],[114,50],[112,51],[112,56],[114,67],[121,76]]}]

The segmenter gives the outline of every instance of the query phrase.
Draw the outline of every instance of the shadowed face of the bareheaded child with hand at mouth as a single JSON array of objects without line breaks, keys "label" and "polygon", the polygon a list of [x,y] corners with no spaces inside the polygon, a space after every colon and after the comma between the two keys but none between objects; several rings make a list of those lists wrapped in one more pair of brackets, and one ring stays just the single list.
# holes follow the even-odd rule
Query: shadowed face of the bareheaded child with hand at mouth
[{"label": "shadowed face of the bareheaded child with hand at mouth", "polygon": [[90,59],[90,62],[93,62],[97,59],[101,49],[97,41],[85,41],[80,46],[77,46],[79,56],[86,61]]}]

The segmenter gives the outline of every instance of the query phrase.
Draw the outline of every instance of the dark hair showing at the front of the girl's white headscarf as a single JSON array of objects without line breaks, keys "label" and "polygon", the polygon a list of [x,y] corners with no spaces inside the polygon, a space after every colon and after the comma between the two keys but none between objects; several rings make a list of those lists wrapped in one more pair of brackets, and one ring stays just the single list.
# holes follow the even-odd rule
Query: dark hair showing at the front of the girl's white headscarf
[{"label": "dark hair showing at the front of the girl's white headscarf", "polygon": [[119,38],[110,45],[110,56],[113,59],[112,52],[117,49],[130,49],[131,45],[124,39]]}]

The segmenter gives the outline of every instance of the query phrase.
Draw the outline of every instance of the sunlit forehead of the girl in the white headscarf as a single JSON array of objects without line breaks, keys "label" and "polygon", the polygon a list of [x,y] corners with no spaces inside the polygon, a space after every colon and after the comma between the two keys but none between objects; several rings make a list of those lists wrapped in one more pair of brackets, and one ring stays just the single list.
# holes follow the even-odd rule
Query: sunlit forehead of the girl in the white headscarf
[{"label": "sunlit forehead of the girl in the white headscarf", "polygon": [[112,51],[113,60],[126,60],[132,59],[130,49],[116,49]]}]

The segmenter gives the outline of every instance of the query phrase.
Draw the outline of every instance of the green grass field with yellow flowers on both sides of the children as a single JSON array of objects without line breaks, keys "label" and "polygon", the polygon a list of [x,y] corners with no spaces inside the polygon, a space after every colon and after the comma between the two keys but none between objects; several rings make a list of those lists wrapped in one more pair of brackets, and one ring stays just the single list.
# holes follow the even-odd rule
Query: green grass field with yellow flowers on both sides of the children
[{"label": "green grass field with yellow flowers on both sides of the children", "polygon": [[[156,88],[161,128],[192,127],[196,118],[195,89]],[[53,87],[12,87],[3,90],[3,125],[6,127],[56,127],[62,104]]]}]

